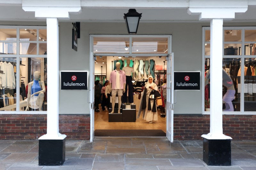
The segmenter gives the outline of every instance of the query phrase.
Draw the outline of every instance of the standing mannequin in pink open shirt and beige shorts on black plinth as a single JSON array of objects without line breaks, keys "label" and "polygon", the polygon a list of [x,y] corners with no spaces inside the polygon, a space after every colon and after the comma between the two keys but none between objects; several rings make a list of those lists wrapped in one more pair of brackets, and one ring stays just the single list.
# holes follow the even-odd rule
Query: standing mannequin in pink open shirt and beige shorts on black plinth
[{"label": "standing mannequin in pink open shirt and beige shorts on black plinth", "polygon": [[116,70],[111,71],[109,78],[110,92],[112,92],[112,112],[114,113],[116,93],[118,94],[118,113],[121,108],[121,97],[125,92],[126,76],[123,70],[120,70],[120,63],[116,62]]}]

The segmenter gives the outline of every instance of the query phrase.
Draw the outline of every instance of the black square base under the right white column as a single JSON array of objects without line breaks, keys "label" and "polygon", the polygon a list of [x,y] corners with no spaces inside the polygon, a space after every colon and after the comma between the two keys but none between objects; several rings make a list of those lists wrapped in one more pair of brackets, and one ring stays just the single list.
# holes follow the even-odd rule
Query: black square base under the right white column
[{"label": "black square base under the right white column", "polygon": [[204,138],[203,160],[208,166],[231,166],[231,139]]}]

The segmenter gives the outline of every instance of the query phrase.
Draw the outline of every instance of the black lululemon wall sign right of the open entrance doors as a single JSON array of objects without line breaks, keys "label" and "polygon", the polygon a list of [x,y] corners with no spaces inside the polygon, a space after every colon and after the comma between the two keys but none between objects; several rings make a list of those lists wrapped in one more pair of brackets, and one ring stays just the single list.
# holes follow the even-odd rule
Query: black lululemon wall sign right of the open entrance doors
[{"label": "black lululemon wall sign right of the open entrance doors", "polygon": [[200,90],[200,72],[174,72],[174,90]]}]

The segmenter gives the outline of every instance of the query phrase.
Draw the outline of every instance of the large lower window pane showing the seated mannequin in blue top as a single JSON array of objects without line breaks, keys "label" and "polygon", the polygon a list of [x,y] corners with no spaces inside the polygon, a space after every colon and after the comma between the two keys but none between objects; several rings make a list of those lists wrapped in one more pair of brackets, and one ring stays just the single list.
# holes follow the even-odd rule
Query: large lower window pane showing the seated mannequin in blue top
[{"label": "large lower window pane showing the seated mannequin in blue top", "polygon": [[46,58],[20,58],[20,95],[20,111],[47,111]]}]

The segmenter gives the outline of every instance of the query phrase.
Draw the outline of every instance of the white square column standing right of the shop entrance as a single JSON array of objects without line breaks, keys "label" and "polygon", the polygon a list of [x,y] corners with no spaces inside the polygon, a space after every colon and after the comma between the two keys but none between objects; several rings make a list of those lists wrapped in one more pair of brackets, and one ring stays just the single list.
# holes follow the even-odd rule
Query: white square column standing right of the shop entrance
[{"label": "white square column standing right of the shop entrance", "polygon": [[210,40],[210,133],[207,139],[231,139],[222,129],[222,36],[223,19],[211,19]]}]

